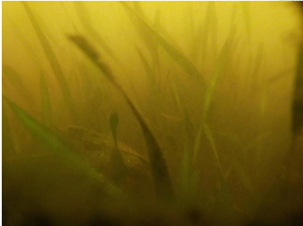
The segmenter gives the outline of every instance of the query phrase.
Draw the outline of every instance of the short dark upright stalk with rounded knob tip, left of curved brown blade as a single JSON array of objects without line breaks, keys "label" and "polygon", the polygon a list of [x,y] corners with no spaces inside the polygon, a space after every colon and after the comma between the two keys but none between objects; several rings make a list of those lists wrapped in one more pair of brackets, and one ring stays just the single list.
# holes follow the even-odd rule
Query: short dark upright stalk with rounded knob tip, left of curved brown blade
[{"label": "short dark upright stalk with rounded knob tip, left of curved brown blade", "polygon": [[123,161],[121,152],[118,148],[118,141],[117,141],[117,129],[119,124],[119,117],[117,112],[112,112],[110,115],[110,128],[113,135],[114,145],[115,148],[111,154],[111,161],[110,161],[110,173],[111,178],[120,185],[125,180],[126,176],[126,166]]}]

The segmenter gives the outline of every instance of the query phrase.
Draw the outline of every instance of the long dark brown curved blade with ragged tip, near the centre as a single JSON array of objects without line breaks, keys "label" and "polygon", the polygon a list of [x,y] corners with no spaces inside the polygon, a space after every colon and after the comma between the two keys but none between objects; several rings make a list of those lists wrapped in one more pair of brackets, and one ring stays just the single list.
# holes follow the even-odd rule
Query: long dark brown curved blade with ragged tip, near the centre
[{"label": "long dark brown curved blade with ragged tip, near the centre", "polygon": [[159,197],[167,198],[173,195],[173,188],[167,169],[166,162],[163,158],[160,146],[155,138],[155,135],[150,129],[145,118],[139,111],[137,105],[129,98],[124,88],[116,81],[114,75],[111,73],[109,67],[100,60],[99,54],[92,48],[87,40],[79,35],[70,36],[69,39],[74,42],[84,54],[99,68],[99,70],[106,76],[112,85],[121,93],[127,104],[130,106],[132,112],[137,118],[148,149],[149,161],[151,165],[152,177],[155,184],[155,190]]}]

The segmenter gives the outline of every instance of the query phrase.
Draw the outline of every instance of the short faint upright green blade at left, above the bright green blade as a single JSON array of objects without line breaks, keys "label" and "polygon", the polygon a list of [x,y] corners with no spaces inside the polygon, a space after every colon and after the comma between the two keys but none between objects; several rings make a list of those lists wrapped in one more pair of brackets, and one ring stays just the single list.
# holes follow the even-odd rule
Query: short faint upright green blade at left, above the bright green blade
[{"label": "short faint upright green blade at left, above the bright green blade", "polygon": [[47,125],[52,125],[52,105],[49,96],[47,83],[45,81],[44,73],[40,72],[40,87],[41,87],[41,107],[42,107],[42,122]]}]

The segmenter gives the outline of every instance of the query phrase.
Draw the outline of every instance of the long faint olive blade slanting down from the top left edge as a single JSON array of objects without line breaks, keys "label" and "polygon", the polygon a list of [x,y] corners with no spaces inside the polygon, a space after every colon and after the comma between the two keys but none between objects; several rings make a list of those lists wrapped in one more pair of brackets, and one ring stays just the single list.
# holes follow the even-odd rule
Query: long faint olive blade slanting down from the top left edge
[{"label": "long faint olive blade slanting down from the top left edge", "polygon": [[64,76],[63,70],[60,66],[60,63],[58,61],[58,58],[56,57],[49,41],[47,40],[45,34],[43,33],[38,21],[35,18],[34,13],[32,12],[32,10],[30,9],[30,7],[28,6],[27,2],[22,2],[24,9],[27,13],[28,18],[30,19],[33,28],[36,32],[36,35],[38,36],[38,39],[40,41],[40,44],[43,48],[43,51],[50,63],[50,66],[56,76],[56,79],[59,83],[60,86],[60,90],[63,94],[63,98],[67,104],[67,107],[70,111],[71,117],[73,118],[73,120],[75,122],[77,122],[78,116],[77,116],[77,112],[76,112],[76,108],[70,93],[70,89],[69,86],[67,84],[66,78]]}]

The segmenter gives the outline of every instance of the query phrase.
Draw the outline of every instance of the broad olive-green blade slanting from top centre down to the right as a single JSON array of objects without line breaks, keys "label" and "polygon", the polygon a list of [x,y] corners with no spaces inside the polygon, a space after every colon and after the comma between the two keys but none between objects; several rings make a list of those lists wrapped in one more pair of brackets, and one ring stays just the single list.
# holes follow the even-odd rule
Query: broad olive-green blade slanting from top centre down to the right
[{"label": "broad olive-green blade slanting from top centre down to the right", "polygon": [[202,80],[203,85],[205,84],[202,74],[180,50],[178,50],[164,37],[162,37],[162,35],[160,35],[156,30],[154,30],[148,24],[148,22],[146,22],[138,14],[136,14],[136,12],[134,12],[127,4],[125,4],[124,2],[121,2],[121,4],[124,6],[124,9],[126,10],[131,20],[133,17],[135,17],[136,21],[140,23],[141,26],[138,29],[142,29],[142,27],[144,27],[145,30],[147,30],[151,35],[153,35],[157,39],[158,43],[163,47],[163,49],[166,50],[166,52],[172,57],[172,59],[174,59],[177,64],[179,64],[183,68],[184,71],[186,71],[194,79],[198,81]]}]

